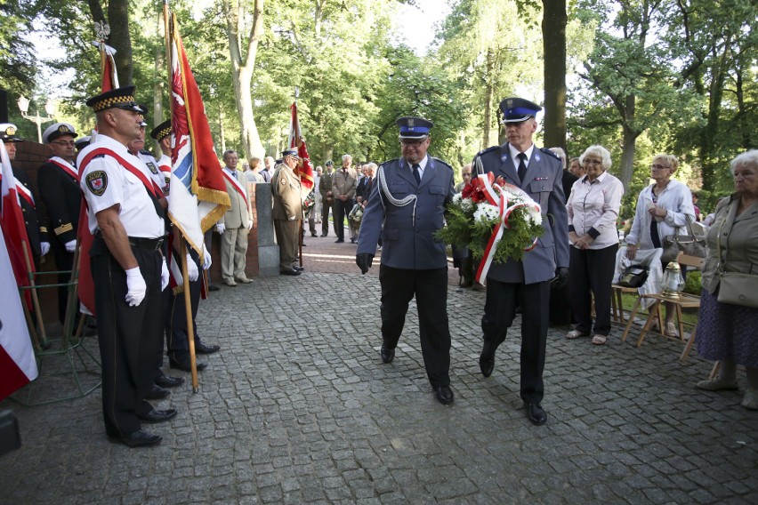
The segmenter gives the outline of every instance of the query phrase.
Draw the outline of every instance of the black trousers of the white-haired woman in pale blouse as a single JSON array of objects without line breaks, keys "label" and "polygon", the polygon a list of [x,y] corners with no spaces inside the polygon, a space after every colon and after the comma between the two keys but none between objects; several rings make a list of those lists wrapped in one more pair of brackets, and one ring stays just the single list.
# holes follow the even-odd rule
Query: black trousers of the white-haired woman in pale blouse
[{"label": "black trousers of the white-haired woman in pale blouse", "polygon": [[[616,269],[618,244],[603,249],[571,247],[568,268],[568,292],[571,314],[577,331],[608,336],[610,333],[610,285]],[[595,299],[595,323],[592,307]]]}]

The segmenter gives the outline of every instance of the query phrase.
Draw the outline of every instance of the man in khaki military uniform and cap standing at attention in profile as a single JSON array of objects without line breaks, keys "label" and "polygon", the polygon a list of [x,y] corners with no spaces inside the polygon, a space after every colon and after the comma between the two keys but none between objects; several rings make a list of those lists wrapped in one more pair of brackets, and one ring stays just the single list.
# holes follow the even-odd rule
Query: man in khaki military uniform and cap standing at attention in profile
[{"label": "man in khaki military uniform and cap standing at attention in profile", "polygon": [[282,152],[282,164],[278,165],[271,177],[274,231],[279,244],[279,273],[283,276],[299,276],[302,271],[294,265],[302,220],[300,178],[294,173],[297,162],[297,149],[286,149]]}]

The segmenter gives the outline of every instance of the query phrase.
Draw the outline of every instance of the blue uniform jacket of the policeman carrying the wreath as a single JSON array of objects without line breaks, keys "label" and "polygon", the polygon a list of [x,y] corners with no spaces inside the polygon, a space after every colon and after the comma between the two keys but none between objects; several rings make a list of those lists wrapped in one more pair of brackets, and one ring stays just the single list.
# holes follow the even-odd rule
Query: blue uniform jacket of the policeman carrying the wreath
[{"label": "blue uniform jacket of the policeman carrying the wreath", "polygon": [[505,182],[523,189],[542,208],[543,236],[536,247],[524,253],[523,261],[493,263],[488,277],[504,283],[534,284],[555,277],[555,269],[568,268],[568,214],[563,196],[563,170],[560,158],[549,149],[532,149],[526,177],[521,182],[513,164],[508,143],[488,148],[474,158],[473,175],[479,173],[477,158],[484,172],[502,175]]}]

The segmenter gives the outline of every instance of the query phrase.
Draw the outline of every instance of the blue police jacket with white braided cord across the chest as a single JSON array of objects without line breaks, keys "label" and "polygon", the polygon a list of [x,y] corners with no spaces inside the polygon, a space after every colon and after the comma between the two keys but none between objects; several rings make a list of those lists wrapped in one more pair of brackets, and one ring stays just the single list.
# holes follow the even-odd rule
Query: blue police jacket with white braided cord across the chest
[{"label": "blue police jacket with white braided cord across the chest", "polygon": [[[454,195],[453,169],[438,158],[427,155],[426,160],[418,184],[404,158],[379,167],[360,223],[358,254],[375,254],[382,236],[383,265],[416,270],[448,266],[445,243],[434,233],[442,228],[445,205]],[[415,201],[402,206],[391,201],[408,196]]]}]

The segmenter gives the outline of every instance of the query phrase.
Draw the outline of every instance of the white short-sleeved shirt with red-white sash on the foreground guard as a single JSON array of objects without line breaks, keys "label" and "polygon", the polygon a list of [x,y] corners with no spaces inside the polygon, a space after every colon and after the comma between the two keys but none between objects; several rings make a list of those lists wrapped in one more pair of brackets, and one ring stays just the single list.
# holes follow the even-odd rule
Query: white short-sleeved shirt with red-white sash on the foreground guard
[{"label": "white short-sleeved shirt with red-white sash on the foreground guard", "polygon": [[96,156],[82,167],[82,161],[97,148],[108,148],[121,160],[131,164],[148,183],[150,171],[137,156],[132,156],[124,144],[107,135],[99,134],[97,141],[82,149],[77,157],[77,165],[83,171],[79,187],[85,195],[89,212],[87,220],[90,231],[97,230],[97,212],[118,205],[118,218],[127,236],[159,238],[165,236],[164,220],[158,215],[157,203],[149,195],[148,189],[139,177],[129,172],[116,157]]}]

